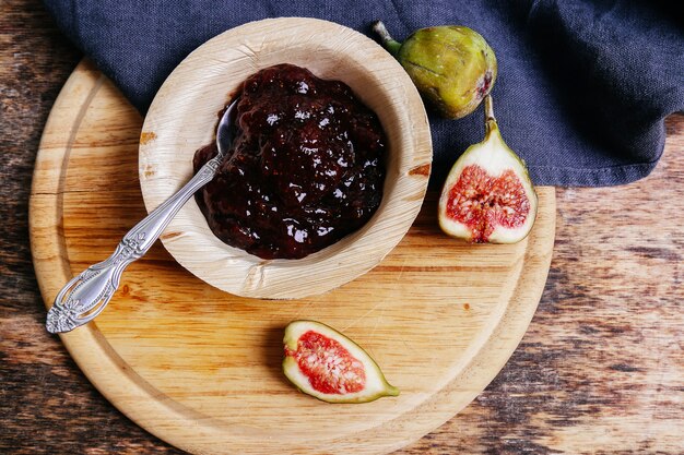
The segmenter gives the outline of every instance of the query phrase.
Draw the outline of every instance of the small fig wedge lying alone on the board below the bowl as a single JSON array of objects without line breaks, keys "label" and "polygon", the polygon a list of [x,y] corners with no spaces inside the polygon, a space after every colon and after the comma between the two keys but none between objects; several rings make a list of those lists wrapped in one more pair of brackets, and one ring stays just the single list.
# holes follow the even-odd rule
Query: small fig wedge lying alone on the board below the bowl
[{"label": "small fig wedge lying alone on the board below the bowl", "polygon": [[326,324],[294,321],[285,328],[283,344],[283,372],[305,394],[328,403],[399,395],[365,350]]}]

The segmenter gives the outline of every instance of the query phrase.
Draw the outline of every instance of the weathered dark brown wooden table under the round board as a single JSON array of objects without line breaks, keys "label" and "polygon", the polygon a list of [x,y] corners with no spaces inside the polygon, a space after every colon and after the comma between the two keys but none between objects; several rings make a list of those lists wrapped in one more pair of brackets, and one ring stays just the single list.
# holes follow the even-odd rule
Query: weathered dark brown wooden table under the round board
[{"label": "weathered dark brown wooden table under the round board", "polygon": [[[33,271],[28,195],[50,107],[80,53],[37,0],[0,3],[0,453],[179,453],[87,382]],[[496,380],[398,454],[684,452],[684,116],[653,173],[558,189],[539,310]]]}]

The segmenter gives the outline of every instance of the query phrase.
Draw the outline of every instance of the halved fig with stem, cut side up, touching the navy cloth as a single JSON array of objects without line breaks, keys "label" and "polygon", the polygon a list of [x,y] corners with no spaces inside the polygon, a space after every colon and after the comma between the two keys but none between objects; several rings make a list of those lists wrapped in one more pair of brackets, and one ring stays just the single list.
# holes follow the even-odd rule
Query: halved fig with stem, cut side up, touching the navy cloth
[{"label": "halved fig with stem, cut side up, touching the navy cloth", "polygon": [[456,161],[439,197],[439,227],[473,243],[515,243],[532,229],[536,192],[524,161],[508,148],[485,98],[485,137]]}]

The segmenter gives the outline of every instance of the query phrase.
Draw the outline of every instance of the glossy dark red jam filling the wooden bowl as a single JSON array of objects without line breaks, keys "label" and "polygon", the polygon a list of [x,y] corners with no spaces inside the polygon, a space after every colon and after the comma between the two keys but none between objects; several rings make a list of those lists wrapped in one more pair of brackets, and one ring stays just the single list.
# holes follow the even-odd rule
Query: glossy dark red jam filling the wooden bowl
[{"label": "glossy dark red jam filling the wooden bowl", "polygon": [[[339,81],[279,64],[245,81],[235,139],[197,194],[221,240],[263,259],[298,259],[363,226],[380,205],[386,137]],[[194,154],[194,171],[216,154]]]}]

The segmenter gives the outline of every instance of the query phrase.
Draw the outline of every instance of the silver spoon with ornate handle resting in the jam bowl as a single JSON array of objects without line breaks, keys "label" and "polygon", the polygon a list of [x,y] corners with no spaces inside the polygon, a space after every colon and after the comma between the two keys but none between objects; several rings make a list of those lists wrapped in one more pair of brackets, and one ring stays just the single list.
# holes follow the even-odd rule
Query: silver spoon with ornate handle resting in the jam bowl
[{"label": "silver spoon with ornate handle resting in the jam bowl", "polygon": [[216,128],[219,154],[207,161],[185,187],[129,230],[114,254],[101,263],[91,265],[67,283],[47,313],[45,327],[48,332],[71,332],[94,320],[119,287],[123,270],[148,252],[180,207],[214,178],[225,153],[231,148],[233,140],[231,119],[236,105],[237,99],[226,108]]}]

